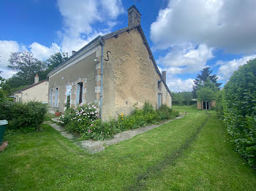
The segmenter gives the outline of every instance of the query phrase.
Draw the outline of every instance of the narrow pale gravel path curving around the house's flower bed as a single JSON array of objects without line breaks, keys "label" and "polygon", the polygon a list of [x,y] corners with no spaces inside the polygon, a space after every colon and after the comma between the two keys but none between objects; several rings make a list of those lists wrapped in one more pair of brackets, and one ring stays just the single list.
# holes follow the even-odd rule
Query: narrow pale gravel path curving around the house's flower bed
[{"label": "narrow pale gravel path curving around the house's flower bed", "polygon": [[[181,117],[184,117],[184,115],[180,116],[180,117],[176,117],[173,120],[180,119]],[[108,147],[111,144],[117,144],[121,141],[131,139],[132,137],[137,136],[138,134],[145,133],[146,131],[154,129],[154,128],[158,128],[159,126],[161,126],[167,122],[171,122],[173,120],[167,120],[166,122],[162,122],[159,125],[148,125],[143,128],[127,130],[127,131],[116,134],[115,136],[113,136],[113,139],[110,139],[110,140],[105,140],[105,141],[85,140],[85,141],[75,141],[74,143],[81,149],[84,149],[91,153],[97,153],[97,152],[104,150],[105,147]],[[64,128],[62,128],[61,126],[56,125],[55,123],[52,123],[49,125],[52,126],[54,129],[58,130],[62,136],[74,141],[75,137],[71,133],[68,133],[66,130],[64,130]]]}]

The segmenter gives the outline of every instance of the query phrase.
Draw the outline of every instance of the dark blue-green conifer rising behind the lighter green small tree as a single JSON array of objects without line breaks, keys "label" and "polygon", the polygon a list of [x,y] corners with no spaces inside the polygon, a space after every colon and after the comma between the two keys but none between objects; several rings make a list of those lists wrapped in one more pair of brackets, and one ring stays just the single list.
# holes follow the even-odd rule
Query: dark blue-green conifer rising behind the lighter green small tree
[{"label": "dark blue-green conifer rising behind the lighter green small tree", "polygon": [[209,79],[211,82],[214,83],[214,85],[219,89],[219,86],[222,85],[222,83],[217,82],[217,75],[211,75],[212,70],[210,70],[209,67],[204,68],[201,71],[201,74],[197,74],[197,77],[194,80],[194,85],[193,85],[193,97],[197,98],[197,89],[198,89],[198,85],[200,85],[200,83],[202,82],[206,82],[207,79]]}]

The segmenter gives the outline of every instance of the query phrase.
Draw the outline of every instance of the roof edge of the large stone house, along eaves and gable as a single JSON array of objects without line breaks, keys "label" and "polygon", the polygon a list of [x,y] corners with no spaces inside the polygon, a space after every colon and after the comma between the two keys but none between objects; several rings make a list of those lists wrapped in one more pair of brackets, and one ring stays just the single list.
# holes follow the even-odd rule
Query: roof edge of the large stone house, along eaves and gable
[{"label": "roof edge of the large stone house, along eaves and gable", "polygon": [[104,36],[101,36],[101,35],[97,36],[97,37],[94,38],[91,42],[89,42],[89,43],[86,44],[84,47],[82,47],[80,50],[78,50],[78,52],[76,52],[76,53],[73,54],[71,57],[69,57],[69,58],[67,59],[67,61],[64,61],[64,62],[61,63],[59,66],[57,66],[55,69],[53,69],[52,71],[50,71],[49,74],[48,74],[48,76],[50,76],[51,74],[54,74],[55,71],[58,71],[58,70],[61,69],[62,67],[66,66],[67,63],[69,63],[69,61],[71,61],[73,58],[75,58],[76,56],[78,56],[78,55],[80,54],[80,52],[83,52],[83,50],[86,50],[87,48],[89,48],[92,44],[94,44],[94,46],[96,46],[96,45],[102,43],[102,40],[104,41],[105,39],[109,39],[109,38],[111,38],[111,37],[113,37],[113,36],[116,36],[116,35],[118,35],[118,34],[121,34],[121,33],[125,32],[125,31],[129,31],[129,30],[132,29],[132,28],[138,28],[138,31],[140,31],[141,37],[143,38],[143,43],[145,44],[145,46],[146,46],[146,48],[147,48],[147,50],[148,50],[148,54],[150,55],[150,58],[151,58],[151,60],[152,60],[152,62],[153,62],[153,64],[154,64],[154,68],[156,69],[157,74],[159,74],[159,77],[160,77],[161,81],[163,82],[163,84],[165,85],[165,87],[166,87],[168,93],[170,94],[170,96],[173,96],[172,93],[170,92],[169,87],[167,86],[165,80],[162,78],[162,74],[161,74],[161,72],[160,72],[159,69],[158,69],[158,66],[157,66],[156,61],[154,60],[154,55],[153,55],[152,52],[151,52],[151,49],[150,49],[150,47],[149,47],[149,45],[148,45],[148,41],[147,41],[147,39],[146,39],[146,36],[145,36],[145,34],[144,34],[144,32],[143,32],[143,29],[141,28],[140,24],[134,25],[134,26],[128,26],[128,27],[125,27],[125,28],[121,28],[121,29],[119,29],[118,31],[114,31],[114,32],[112,32],[112,33],[110,33],[110,34],[106,34],[106,35],[104,35]]}]

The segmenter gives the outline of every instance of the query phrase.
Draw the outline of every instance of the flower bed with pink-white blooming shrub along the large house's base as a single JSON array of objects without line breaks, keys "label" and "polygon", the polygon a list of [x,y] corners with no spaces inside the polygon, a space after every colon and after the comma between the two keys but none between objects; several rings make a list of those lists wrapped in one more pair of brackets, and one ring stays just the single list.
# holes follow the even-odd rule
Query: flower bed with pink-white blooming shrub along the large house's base
[{"label": "flower bed with pink-white blooming shrub along the large house's base", "polygon": [[179,115],[178,112],[166,105],[162,105],[156,111],[148,101],[145,102],[142,109],[138,109],[137,104],[134,106],[135,110],[128,116],[120,114],[117,119],[101,122],[98,107],[94,104],[85,104],[67,109],[59,117],[59,122],[72,133],[78,133],[82,139],[103,140],[110,139],[123,130],[140,128]]}]

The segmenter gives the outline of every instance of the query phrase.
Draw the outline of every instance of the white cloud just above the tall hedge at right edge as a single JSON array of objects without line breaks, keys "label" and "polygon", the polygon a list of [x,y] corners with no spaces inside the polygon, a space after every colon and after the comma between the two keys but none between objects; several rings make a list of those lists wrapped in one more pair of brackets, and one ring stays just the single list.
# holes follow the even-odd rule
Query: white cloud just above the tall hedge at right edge
[{"label": "white cloud just above the tall hedge at right edge", "polygon": [[217,72],[219,79],[229,79],[239,66],[246,64],[247,61],[254,58],[256,58],[256,55],[247,55],[240,59],[234,59],[233,61],[218,61],[217,65],[220,65],[219,71]]}]

